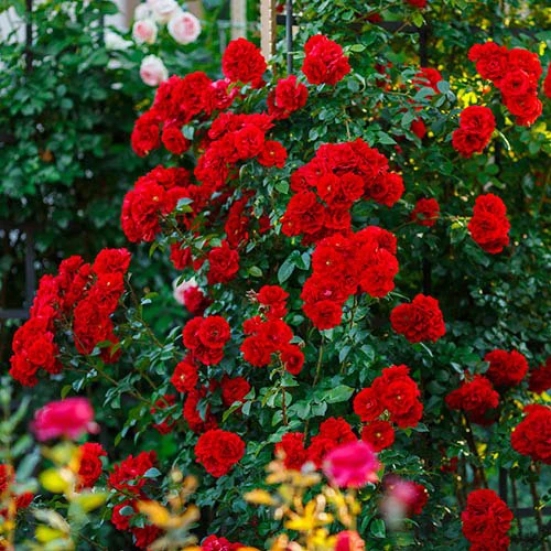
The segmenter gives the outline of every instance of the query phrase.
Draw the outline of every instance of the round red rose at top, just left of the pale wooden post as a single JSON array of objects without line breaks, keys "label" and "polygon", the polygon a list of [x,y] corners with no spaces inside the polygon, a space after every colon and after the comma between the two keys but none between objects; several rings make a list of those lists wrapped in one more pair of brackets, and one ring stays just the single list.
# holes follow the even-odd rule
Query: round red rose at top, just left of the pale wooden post
[{"label": "round red rose at top, just left of the pale wooden post", "polygon": [[260,50],[244,38],[232,40],[222,56],[222,72],[231,82],[258,87],[266,68]]}]

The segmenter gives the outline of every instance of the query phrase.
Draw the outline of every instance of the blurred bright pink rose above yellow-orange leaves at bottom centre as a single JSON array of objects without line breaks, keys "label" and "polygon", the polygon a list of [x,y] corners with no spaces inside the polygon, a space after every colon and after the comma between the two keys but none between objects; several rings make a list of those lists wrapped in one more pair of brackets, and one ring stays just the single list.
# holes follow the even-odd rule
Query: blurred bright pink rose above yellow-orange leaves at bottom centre
[{"label": "blurred bright pink rose above yellow-orange leaves at bottom centre", "polygon": [[331,450],[324,459],[323,472],[339,487],[361,488],[379,480],[381,464],[371,446],[359,440]]}]

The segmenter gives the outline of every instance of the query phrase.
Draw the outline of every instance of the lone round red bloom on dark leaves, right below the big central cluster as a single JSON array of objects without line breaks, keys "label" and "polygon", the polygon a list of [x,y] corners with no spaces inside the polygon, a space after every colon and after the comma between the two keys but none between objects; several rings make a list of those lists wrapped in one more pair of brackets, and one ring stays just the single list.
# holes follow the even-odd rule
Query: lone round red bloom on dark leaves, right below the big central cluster
[{"label": "lone round red bloom on dark leaves, right below the big central cluster", "polygon": [[399,304],[390,313],[392,329],[411,343],[436,342],[446,334],[438,300],[419,294],[410,304]]}]

